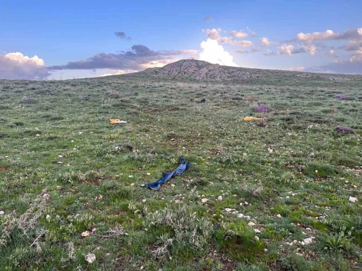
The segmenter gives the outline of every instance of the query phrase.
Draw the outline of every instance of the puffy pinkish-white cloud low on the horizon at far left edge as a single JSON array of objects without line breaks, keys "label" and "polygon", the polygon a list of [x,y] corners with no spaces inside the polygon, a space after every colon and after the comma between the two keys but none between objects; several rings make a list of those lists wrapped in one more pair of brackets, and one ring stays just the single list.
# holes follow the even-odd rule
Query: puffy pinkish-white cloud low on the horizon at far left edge
[{"label": "puffy pinkish-white cloud low on the horizon at far left edge", "polygon": [[44,60],[36,55],[28,57],[19,52],[0,55],[0,79],[42,80],[49,75]]}]

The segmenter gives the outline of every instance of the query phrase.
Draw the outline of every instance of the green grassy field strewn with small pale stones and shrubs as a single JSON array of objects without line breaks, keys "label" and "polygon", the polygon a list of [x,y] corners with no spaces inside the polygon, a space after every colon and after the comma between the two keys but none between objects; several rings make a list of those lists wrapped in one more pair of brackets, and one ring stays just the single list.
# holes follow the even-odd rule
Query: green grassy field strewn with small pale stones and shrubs
[{"label": "green grassy field strewn with small pale stones and shrubs", "polygon": [[362,270],[361,139],[361,81],[0,80],[0,269]]}]

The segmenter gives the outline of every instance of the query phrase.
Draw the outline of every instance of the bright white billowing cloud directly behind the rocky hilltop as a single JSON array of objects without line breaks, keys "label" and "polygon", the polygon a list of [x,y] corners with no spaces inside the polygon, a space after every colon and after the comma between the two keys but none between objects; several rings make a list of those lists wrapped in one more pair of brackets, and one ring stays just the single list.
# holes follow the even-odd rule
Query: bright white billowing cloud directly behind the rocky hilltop
[{"label": "bright white billowing cloud directly behind the rocky hilltop", "polygon": [[216,40],[207,39],[206,41],[202,41],[200,47],[202,51],[199,55],[199,60],[204,60],[212,64],[239,67],[234,63],[232,55],[225,51]]}]

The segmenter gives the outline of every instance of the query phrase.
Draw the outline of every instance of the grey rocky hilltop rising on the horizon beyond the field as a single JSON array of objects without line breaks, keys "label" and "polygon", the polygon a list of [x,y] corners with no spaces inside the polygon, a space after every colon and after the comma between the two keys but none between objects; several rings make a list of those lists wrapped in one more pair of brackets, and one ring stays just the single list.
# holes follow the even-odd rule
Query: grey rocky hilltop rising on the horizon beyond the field
[{"label": "grey rocky hilltop rising on the horizon beyond the field", "polygon": [[184,59],[162,68],[149,68],[140,73],[145,73],[153,77],[187,77],[196,80],[223,81],[242,80],[247,78],[257,78],[266,76],[300,77],[310,79],[325,79],[333,81],[361,80],[362,76],[343,74],[324,74],[311,72],[295,72],[283,70],[261,70],[239,67],[221,66],[211,64],[206,61]]}]

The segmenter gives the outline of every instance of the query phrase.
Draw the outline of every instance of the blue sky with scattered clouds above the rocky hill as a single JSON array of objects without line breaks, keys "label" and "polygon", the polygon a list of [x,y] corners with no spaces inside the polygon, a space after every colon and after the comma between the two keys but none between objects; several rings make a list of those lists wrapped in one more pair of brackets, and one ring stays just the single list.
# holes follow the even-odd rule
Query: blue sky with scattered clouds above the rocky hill
[{"label": "blue sky with scattered clouds above the rocky hill", "polygon": [[199,59],[362,74],[362,1],[9,1],[0,79],[97,77]]}]

